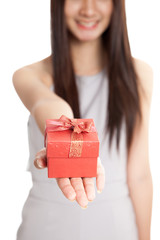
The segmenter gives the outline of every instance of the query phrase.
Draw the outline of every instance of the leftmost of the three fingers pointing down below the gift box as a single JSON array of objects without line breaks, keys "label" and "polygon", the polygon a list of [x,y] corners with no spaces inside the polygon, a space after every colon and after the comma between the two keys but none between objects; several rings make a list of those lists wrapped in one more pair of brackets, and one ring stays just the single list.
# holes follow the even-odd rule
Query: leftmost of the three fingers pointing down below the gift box
[{"label": "leftmost of the three fingers pointing down below the gift box", "polygon": [[74,201],[76,199],[76,193],[69,178],[56,178],[56,181],[64,196],[70,201]]}]

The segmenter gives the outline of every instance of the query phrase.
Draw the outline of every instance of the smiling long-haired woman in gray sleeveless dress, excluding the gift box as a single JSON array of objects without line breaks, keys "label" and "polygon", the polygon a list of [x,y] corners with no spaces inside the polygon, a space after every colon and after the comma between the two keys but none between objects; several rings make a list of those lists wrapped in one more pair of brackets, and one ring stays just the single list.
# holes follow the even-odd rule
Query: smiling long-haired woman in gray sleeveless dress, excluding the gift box
[{"label": "smiling long-haired woman in gray sleeveless dress, excluding the gift box", "polygon": [[[51,23],[51,56],[13,75],[31,113],[33,179],[17,239],[149,240],[152,70],[131,56],[124,0],[52,0]],[[45,120],[61,115],[94,119],[96,179],[47,178]]]}]

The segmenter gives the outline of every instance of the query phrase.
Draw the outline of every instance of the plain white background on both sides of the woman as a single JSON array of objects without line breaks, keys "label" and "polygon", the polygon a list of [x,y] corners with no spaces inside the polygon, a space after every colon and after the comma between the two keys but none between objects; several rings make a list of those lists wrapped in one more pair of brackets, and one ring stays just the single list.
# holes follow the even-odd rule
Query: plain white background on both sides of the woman
[{"label": "plain white background on both sides of the woman", "polygon": [[[150,121],[150,165],[154,184],[152,240],[160,239],[160,16],[158,0],[127,0],[127,23],[134,57],[154,71]],[[16,239],[21,211],[32,185],[26,172],[29,112],[12,85],[13,72],[50,55],[50,1],[0,1],[0,239]]]}]

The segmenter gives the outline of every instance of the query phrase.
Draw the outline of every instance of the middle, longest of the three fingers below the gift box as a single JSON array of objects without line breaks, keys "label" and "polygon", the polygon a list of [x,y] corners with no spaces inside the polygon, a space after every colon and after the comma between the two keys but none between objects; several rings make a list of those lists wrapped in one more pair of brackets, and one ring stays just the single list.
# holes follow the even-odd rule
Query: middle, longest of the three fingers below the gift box
[{"label": "middle, longest of the three fingers below the gift box", "polygon": [[88,198],[85,193],[82,178],[71,178],[71,184],[76,192],[76,200],[82,208],[87,208]]}]

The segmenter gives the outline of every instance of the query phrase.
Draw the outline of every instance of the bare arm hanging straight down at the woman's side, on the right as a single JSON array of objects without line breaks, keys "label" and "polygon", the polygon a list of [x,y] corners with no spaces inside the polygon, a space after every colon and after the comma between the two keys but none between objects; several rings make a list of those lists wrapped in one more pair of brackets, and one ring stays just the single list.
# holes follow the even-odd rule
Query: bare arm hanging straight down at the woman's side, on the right
[{"label": "bare arm hanging straight down at the woman's side, on the right", "polygon": [[135,62],[144,94],[140,91],[142,122],[136,125],[128,153],[127,182],[136,214],[139,240],[150,240],[152,215],[152,177],[149,166],[148,134],[153,74],[141,61]]}]

